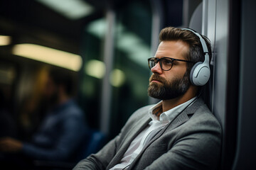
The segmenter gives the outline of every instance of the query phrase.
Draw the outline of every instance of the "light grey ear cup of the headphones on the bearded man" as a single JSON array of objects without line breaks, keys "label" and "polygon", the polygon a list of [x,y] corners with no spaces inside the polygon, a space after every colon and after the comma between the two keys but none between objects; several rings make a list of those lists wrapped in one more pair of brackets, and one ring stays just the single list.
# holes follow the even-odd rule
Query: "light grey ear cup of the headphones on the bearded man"
[{"label": "light grey ear cup of the headphones on the bearded man", "polygon": [[210,78],[210,68],[208,64],[197,62],[191,69],[190,79],[195,86],[203,86]]}]

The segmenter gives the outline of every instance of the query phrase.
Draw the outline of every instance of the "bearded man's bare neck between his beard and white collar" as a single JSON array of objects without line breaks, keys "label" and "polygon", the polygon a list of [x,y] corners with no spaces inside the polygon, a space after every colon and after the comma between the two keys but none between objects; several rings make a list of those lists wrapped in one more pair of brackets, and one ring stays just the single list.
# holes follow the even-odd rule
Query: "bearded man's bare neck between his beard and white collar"
[{"label": "bearded man's bare neck between his beard and white collar", "polygon": [[196,86],[190,86],[188,88],[188,91],[186,91],[183,96],[179,96],[177,98],[172,98],[169,100],[164,100],[162,102],[163,112],[169,111],[171,108],[174,108],[182,103],[185,103],[186,101],[189,101],[191,98],[196,96]]}]

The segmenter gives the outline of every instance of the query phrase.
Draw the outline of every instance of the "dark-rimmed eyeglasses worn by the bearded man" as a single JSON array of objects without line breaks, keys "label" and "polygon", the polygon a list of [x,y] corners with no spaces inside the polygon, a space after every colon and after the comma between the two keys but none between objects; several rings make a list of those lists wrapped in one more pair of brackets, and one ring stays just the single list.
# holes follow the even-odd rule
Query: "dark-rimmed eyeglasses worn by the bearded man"
[{"label": "dark-rimmed eyeglasses worn by the bearded man", "polygon": [[162,57],[162,58],[151,57],[148,59],[149,69],[152,69],[153,67],[155,67],[156,64],[159,62],[161,69],[163,69],[164,71],[169,71],[171,67],[173,67],[174,61],[195,63],[188,60],[179,60],[179,59],[174,59],[170,57]]}]

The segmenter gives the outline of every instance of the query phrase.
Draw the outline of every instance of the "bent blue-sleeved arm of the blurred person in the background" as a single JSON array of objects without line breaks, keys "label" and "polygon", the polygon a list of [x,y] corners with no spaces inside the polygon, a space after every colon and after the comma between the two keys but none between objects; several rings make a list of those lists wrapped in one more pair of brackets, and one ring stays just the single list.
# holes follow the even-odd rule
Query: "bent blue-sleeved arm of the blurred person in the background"
[{"label": "bent blue-sleeved arm of the blurred person in the background", "polygon": [[82,123],[80,115],[67,116],[63,120],[63,126],[58,133],[60,136],[56,139],[56,144],[52,148],[38,146],[38,141],[35,143],[25,142],[21,152],[28,157],[39,160],[60,161],[68,159],[85,134],[85,125]]}]

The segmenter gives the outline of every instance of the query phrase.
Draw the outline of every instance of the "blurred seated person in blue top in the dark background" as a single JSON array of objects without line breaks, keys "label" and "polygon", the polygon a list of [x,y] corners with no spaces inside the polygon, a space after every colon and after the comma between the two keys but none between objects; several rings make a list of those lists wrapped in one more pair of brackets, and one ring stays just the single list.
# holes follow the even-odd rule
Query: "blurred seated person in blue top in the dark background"
[{"label": "blurred seated person in blue top in the dark background", "polygon": [[31,166],[34,160],[71,161],[87,131],[85,115],[73,98],[73,77],[52,69],[43,93],[48,111],[28,142],[1,137],[1,165]]}]

